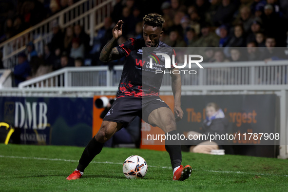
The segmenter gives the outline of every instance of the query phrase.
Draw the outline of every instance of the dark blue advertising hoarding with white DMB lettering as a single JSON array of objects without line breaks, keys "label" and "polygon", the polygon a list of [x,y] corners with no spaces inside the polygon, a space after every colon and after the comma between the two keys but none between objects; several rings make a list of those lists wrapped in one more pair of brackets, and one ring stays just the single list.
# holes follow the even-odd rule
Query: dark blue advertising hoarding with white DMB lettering
[{"label": "dark blue advertising hoarding with white DMB lettering", "polygon": [[92,137],[93,98],[0,97],[0,109],[22,144],[85,146]]}]

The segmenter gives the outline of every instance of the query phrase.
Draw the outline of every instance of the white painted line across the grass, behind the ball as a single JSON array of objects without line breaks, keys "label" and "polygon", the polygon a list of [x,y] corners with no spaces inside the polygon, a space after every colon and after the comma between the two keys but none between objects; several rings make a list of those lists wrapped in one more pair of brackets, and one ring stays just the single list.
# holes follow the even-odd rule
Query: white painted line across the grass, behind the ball
[{"label": "white painted line across the grass, behind the ball", "polygon": [[[49,160],[49,161],[65,161],[65,162],[78,162],[78,160],[72,160],[72,159],[58,159],[58,158],[42,158],[42,157],[24,157],[24,156],[5,156],[0,155],[1,158],[18,158],[18,159],[36,159],[36,160]],[[122,165],[123,163],[115,163],[115,162],[99,162],[99,161],[91,161],[91,163],[98,163],[98,164],[115,164],[115,165]],[[155,168],[162,168],[162,169],[172,169],[171,167],[161,167],[161,166],[153,166],[149,165],[149,167],[155,167]],[[269,174],[269,173],[247,173],[247,172],[229,172],[229,171],[213,171],[213,170],[197,170],[192,169],[194,171],[203,171],[203,172],[213,172],[213,173],[238,173],[238,174],[254,174],[254,175],[266,175],[266,176],[285,176],[288,175],[279,175],[279,174]]]}]

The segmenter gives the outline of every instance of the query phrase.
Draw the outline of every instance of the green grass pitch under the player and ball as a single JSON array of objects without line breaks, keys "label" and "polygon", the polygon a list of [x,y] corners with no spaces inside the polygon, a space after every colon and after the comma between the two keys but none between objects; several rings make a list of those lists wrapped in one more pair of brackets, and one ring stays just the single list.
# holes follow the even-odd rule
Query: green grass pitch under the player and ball
[{"label": "green grass pitch under the player and ball", "polygon": [[[0,191],[288,191],[287,159],[182,153],[192,175],[180,182],[172,180],[167,152],[125,148],[104,148],[81,179],[67,181],[83,149],[0,144]],[[147,161],[144,179],[122,173],[122,163],[133,154]]]}]

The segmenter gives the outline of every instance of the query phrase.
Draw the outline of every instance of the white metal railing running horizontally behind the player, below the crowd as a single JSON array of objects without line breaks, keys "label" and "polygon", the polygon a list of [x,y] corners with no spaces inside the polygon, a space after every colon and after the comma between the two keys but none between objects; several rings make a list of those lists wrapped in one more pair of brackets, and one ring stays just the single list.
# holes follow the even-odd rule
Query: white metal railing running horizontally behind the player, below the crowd
[{"label": "white metal railing running horizontally behind the player, below the crowd", "polygon": [[[179,70],[182,85],[288,85],[288,60],[202,63],[202,66],[204,69]],[[109,71],[108,66],[67,67],[24,81],[19,88],[117,86],[122,69],[123,66],[115,66],[113,71]],[[196,74],[192,74],[194,71]],[[171,86],[169,73],[163,75],[162,86],[165,85]]]}]

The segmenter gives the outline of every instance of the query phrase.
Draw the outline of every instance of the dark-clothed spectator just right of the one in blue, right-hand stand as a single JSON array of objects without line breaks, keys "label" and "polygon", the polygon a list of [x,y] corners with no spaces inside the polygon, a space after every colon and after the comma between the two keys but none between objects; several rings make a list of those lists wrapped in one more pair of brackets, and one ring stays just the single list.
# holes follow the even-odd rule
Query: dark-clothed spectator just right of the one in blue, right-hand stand
[{"label": "dark-clothed spectator just right of the one in blue, right-hand stand", "polygon": [[246,39],[242,25],[235,25],[233,35],[227,43],[227,47],[246,47]]}]

